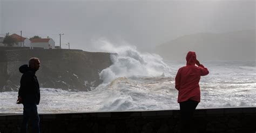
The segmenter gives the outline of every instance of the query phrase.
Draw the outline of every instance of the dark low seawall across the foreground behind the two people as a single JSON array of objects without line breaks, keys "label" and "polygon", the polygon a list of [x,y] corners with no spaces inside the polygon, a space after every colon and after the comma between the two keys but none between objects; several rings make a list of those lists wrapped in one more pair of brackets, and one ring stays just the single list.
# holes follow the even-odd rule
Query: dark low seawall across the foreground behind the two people
[{"label": "dark low seawall across the foreground behind the two people", "polygon": [[[179,110],[40,114],[40,126],[43,133],[179,132],[179,117]],[[0,132],[18,132],[21,122],[22,114],[0,114]],[[197,109],[193,127],[198,133],[255,133],[256,108]]]}]

